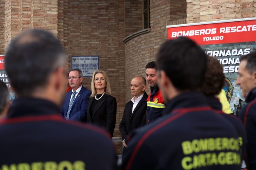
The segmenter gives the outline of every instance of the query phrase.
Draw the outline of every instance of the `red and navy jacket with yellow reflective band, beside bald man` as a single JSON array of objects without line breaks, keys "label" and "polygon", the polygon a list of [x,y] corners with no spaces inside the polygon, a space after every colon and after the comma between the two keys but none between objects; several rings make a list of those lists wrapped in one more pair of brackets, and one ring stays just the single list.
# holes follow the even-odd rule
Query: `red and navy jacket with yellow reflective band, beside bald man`
[{"label": "red and navy jacket with yellow reflective band, beside bald man", "polygon": [[158,88],[150,88],[151,93],[147,99],[147,123],[153,122],[155,119],[162,116],[162,111],[165,108],[163,104],[163,96]]}]

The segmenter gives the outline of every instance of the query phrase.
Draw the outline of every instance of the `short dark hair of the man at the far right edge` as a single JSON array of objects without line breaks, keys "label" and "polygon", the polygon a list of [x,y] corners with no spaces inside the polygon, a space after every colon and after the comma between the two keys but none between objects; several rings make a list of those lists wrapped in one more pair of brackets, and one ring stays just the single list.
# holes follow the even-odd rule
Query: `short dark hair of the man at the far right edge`
[{"label": "short dark hair of the man at the far right edge", "polygon": [[253,74],[253,72],[256,71],[256,51],[241,56],[240,62],[243,60],[247,61],[245,68],[249,71],[250,74]]}]

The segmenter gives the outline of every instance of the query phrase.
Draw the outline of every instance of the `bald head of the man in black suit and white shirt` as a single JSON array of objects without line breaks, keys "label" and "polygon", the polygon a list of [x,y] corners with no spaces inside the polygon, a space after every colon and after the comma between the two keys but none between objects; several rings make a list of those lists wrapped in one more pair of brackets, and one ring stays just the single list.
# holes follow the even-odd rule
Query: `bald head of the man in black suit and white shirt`
[{"label": "bald head of the man in black suit and white shirt", "polygon": [[131,95],[135,98],[140,97],[146,90],[146,80],[143,77],[134,77],[131,80]]}]

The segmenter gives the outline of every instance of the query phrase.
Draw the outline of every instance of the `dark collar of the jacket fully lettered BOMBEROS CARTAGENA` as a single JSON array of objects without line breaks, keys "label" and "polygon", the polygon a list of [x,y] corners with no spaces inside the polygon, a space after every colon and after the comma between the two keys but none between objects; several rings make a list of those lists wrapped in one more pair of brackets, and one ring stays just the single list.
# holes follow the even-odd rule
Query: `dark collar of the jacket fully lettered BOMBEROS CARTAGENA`
[{"label": "dark collar of the jacket fully lettered BOMBEROS CARTAGENA", "polygon": [[199,92],[183,92],[175,98],[171,99],[166,105],[163,114],[171,113],[179,108],[196,108],[209,106],[206,97]]}]

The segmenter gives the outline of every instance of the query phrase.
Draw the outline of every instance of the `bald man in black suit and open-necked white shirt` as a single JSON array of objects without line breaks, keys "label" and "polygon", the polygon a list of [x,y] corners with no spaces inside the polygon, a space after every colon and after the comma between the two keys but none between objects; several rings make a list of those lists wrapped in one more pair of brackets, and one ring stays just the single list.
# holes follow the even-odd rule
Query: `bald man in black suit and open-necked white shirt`
[{"label": "bald man in black suit and open-necked white shirt", "polygon": [[146,124],[147,98],[146,80],[143,77],[134,77],[131,80],[131,95],[133,98],[126,103],[119,130],[122,143],[127,147],[128,135],[138,127]]}]

